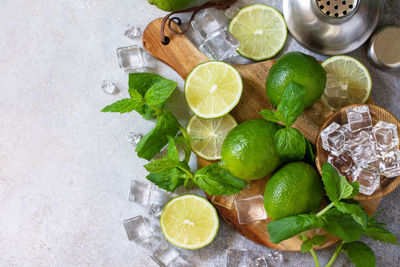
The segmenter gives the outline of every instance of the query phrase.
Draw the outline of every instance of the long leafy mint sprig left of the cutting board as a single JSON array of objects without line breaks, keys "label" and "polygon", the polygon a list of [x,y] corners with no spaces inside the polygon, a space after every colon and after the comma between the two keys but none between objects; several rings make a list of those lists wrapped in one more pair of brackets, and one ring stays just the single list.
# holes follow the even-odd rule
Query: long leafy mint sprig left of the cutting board
[{"label": "long leafy mint sprig left of the cutting board", "polygon": [[[154,129],[140,140],[136,152],[140,158],[150,161],[168,144],[164,157],[154,159],[144,166],[150,173],[146,178],[158,187],[174,191],[182,185],[190,188],[197,184],[210,195],[238,193],[247,183],[232,176],[217,163],[192,173],[189,167],[191,140],[172,112],[165,109],[165,104],[176,86],[176,82],[157,74],[131,73],[130,98],[106,106],[102,112],[126,113],[135,110],[147,120],[156,119]],[[178,146],[182,147],[185,153],[182,160],[179,158]]]}]

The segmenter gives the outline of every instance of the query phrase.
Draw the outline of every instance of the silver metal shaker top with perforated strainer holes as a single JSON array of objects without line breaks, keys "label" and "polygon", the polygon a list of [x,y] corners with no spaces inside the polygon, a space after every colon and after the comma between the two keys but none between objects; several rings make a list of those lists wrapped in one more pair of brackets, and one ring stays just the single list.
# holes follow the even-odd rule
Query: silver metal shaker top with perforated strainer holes
[{"label": "silver metal shaker top with perforated strainer holes", "polygon": [[377,0],[283,0],[292,36],[315,52],[345,54],[360,47],[374,31]]}]

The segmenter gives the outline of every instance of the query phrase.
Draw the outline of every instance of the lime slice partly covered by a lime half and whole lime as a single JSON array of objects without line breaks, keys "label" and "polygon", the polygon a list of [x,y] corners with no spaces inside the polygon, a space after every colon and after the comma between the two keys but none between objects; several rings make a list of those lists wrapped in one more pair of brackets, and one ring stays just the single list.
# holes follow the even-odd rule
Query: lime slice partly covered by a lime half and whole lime
[{"label": "lime slice partly covered by a lime half and whole lime", "polygon": [[190,143],[197,156],[206,160],[221,159],[221,147],[228,133],[237,126],[232,115],[217,119],[190,118],[186,131],[193,139]]}]

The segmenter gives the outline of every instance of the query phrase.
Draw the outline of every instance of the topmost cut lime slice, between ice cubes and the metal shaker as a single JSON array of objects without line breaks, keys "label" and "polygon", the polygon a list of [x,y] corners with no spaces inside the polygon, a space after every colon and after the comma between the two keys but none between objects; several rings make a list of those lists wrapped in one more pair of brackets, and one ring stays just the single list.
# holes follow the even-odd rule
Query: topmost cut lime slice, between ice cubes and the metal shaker
[{"label": "topmost cut lime slice, between ice cubes and the metal shaker", "polygon": [[255,61],[274,57],[285,46],[287,38],[281,13],[261,4],[242,8],[232,19],[229,31],[240,41],[236,51]]}]

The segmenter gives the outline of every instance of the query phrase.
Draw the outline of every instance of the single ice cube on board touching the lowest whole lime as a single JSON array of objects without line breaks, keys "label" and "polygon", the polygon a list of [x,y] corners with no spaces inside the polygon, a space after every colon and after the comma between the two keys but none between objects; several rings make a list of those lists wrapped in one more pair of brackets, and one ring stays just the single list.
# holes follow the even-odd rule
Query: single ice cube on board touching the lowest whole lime
[{"label": "single ice cube on board touching the lowest whole lime", "polygon": [[263,196],[258,195],[250,198],[235,200],[236,212],[239,224],[267,219],[264,209]]}]

